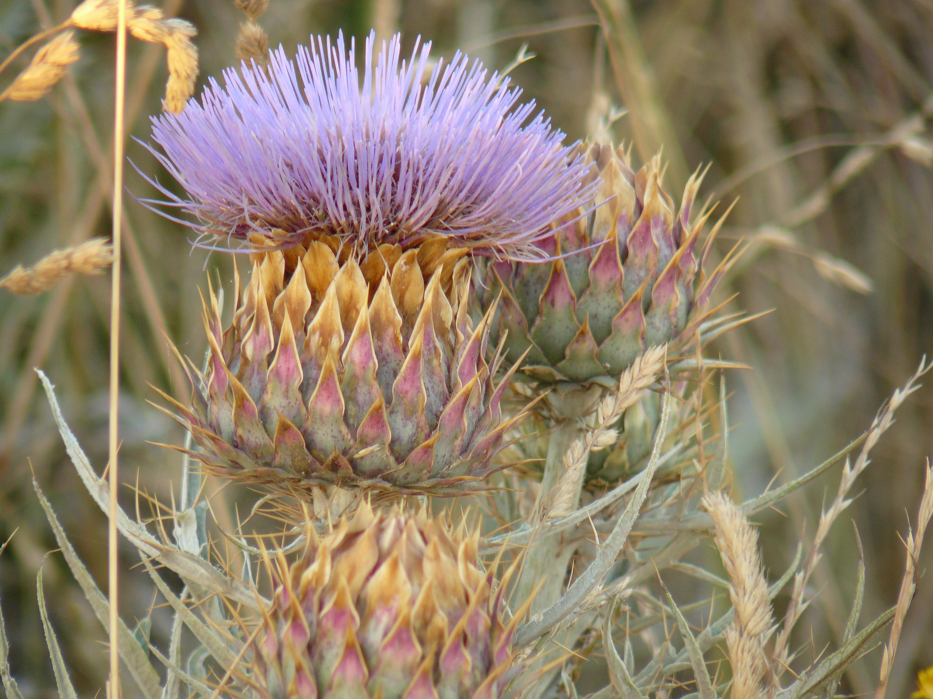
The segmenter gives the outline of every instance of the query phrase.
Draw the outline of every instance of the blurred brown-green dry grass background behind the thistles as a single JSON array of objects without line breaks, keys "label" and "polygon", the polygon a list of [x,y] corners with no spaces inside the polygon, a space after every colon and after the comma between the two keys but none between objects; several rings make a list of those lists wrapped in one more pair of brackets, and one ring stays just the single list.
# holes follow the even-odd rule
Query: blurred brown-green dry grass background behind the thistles
[{"label": "blurred brown-green dry grass background behind the thistles", "polygon": [[[165,0],[193,22],[202,80],[234,63],[243,14],[232,0]],[[2,53],[72,10],[72,0],[0,1]],[[522,44],[535,54],[512,72],[568,139],[634,140],[642,161],[663,144],[666,182],[712,163],[702,193],[731,203],[720,241],[751,242],[720,292],[730,308],[773,312],[720,340],[715,352],[752,368],[732,391],[736,494],[754,494],[825,459],[870,423],[890,392],[933,352],[933,2],[931,0],[272,0],[260,24],[291,53],[309,34],[375,25],[419,34],[435,56],[455,49],[503,68]],[[83,33],[82,59],[39,103],[0,104],[0,274],[51,249],[110,230],[112,34]],[[28,58],[28,57],[27,57]],[[16,73],[0,77],[4,85]],[[130,44],[128,121],[146,140],[160,109],[163,49]],[[629,111],[616,118],[622,108]],[[136,167],[164,182],[131,142]],[[129,171],[128,190],[152,196]],[[174,423],[146,404],[149,384],[185,397],[165,335],[202,355],[198,287],[230,260],[191,252],[190,233],[129,200],[125,246],[121,438],[124,480],[161,500],[177,495],[179,459],[150,443],[180,444]],[[205,271],[206,270],[206,271]],[[57,384],[66,417],[94,462],[106,454],[108,280],[66,281],[48,294],[0,292],[0,598],[21,689],[54,693],[35,603],[35,572],[54,539],[31,474],[49,495],[79,554],[105,587],[105,520],[64,454],[32,367]],[[850,510],[868,567],[866,610],[894,603],[903,570],[898,540],[915,512],[933,453],[933,391],[898,412],[874,451]],[[832,480],[760,520],[766,564],[786,569],[802,531],[812,535]],[[217,488],[214,484],[212,488]],[[132,490],[123,493],[132,507]],[[234,516],[233,494],[212,502]],[[229,520],[228,520],[229,521]],[[813,654],[842,635],[855,588],[856,539],[839,526],[815,576],[820,599],[800,624]],[[126,550],[129,567],[132,551]],[[933,563],[933,547],[926,547]],[[46,587],[78,686],[104,684],[104,634],[63,562],[49,556]],[[145,615],[152,590],[127,573],[121,608]],[[786,603],[786,602],[785,602]],[[777,600],[777,611],[782,601]],[[153,636],[167,629],[153,616]],[[800,645],[795,644],[795,645]],[[856,664],[845,692],[874,691],[878,659]],[[888,697],[906,697],[933,664],[933,575],[919,583]]]}]

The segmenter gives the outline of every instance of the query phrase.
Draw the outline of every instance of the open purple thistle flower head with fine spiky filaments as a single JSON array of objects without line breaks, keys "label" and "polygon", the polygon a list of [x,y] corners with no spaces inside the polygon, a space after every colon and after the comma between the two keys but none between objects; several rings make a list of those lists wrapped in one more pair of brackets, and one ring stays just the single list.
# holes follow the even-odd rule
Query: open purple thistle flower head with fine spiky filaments
[{"label": "open purple thistle flower head with fine spiky filaments", "polygon": [[[152,119],[159,152],[185,188],[172,206],[202,234],[282,245],[334,235],[365,252],[434,237],[478,254],[546,256],[536,241],[594,194],[582,158],[520,89],[457,53],[425,78],[430,44],[400,61],[399,37],[362,81],[355,44],[317,37],[297,62],[272,51],[267,68],[245,63],[211,79],[200,103]],[[296,65],[297,63],[297,65]],[[300,75],[300,83],[299,83]],[[527,123],[525,123],[527,122]],[[153,183],[155,184],[155,183]],[[255,240],[255,239],[254,239]]]}]

